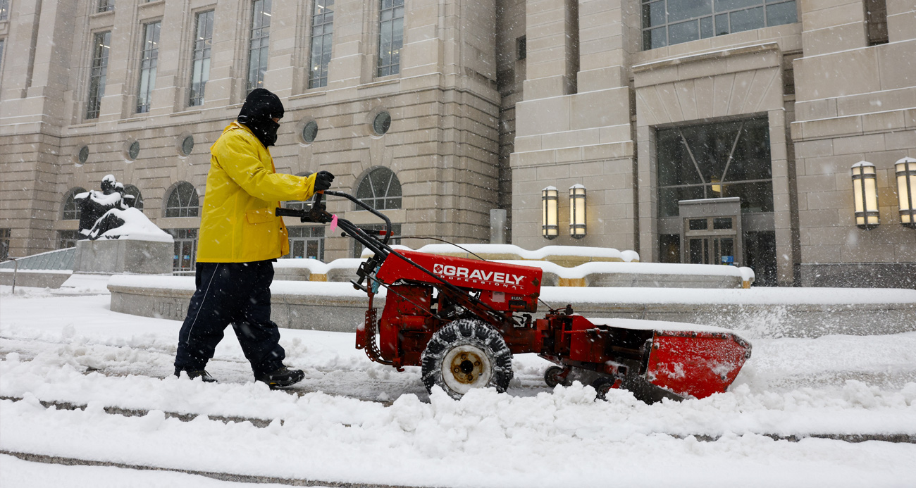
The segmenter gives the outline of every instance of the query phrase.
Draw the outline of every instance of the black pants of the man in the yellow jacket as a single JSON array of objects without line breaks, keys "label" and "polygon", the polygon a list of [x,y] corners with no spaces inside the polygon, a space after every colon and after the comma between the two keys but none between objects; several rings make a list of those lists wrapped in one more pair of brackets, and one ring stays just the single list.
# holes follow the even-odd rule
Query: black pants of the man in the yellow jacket
[{"label": "black pants of the man in the yellow jacket", "polygon": [[178,335],[175,367],[202,370],[230,323],[255,377],[276,371],[286,357],[270,321],[271,261],[198,263],[197,291]]}]

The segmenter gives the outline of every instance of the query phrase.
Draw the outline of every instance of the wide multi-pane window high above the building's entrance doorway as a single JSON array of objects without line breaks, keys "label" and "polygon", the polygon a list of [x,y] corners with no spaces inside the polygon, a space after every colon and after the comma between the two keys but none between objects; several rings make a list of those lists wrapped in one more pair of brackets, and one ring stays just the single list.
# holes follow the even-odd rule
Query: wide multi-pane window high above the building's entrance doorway
[{"label": "wide multi-pane window high above the building's entrance doorway", "polygon": [[795,0],[642,0],[642,49],[793,22]]}]

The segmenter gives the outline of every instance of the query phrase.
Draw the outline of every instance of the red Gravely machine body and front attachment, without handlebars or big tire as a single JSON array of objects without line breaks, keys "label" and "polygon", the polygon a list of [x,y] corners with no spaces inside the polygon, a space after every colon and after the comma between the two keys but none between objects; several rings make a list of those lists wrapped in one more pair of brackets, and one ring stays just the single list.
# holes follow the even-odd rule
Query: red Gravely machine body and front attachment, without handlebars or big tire
[{"label": "red Gravely machine body and front attachment, without handlebars or big tire", "polygon": [[[385,308],[376,321],[370,306],[357,348],[380,363],[420,366],[437,331],[474,317],[498,331],[512,353],[535,352],[558,364],[552,372],[557,383],[575,378],[605,391],[625,387],[646,401],[724,392],[749,357],[750,344],[725,329],[586,319],[569,308],[532,320],[523,312],[537,310],[541,277],[541,269],[531,266],[413,251],[388,255],[373,277],[388,287]],[[375,351],[369,331],[378,334]]]}]

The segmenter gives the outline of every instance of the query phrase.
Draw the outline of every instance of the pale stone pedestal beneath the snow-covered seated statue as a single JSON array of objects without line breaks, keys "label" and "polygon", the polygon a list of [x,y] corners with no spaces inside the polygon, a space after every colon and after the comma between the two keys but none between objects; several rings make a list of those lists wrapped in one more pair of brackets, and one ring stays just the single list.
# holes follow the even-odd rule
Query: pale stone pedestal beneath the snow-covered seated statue
[{"label": "pale stone pedestal beneath the snow-covered seated statue", "polygon": [[132,239],[78,241],[74,273],[170,275],[174,244]]}]

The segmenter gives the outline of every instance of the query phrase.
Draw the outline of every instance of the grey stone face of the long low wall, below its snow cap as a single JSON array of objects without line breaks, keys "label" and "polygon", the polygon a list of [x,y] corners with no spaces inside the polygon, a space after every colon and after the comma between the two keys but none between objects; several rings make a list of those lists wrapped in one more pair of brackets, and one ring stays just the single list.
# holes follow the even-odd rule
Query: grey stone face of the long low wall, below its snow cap
[{"label": "grey stone face of the long low wall, below its snow cap", "polygon": [[[109,285],[112,311],[144,317],[184,320],[193,290]],[[659,303],[669,294],[664,289],[640,293],[646,303],[616,302],[627,289],[606,288],[607,300],[596,302],[571,298],[563,294],[554,297],[551,288],[543,288],[542,298],[557,307],[567,303],[585,317],[644,320],[669,320],[725,327],[744,331],[748,338],[758,337],[820,337],[827,334],[876,335],[916,331],[916,303],[754,303],[751,290],[747,303]],[[368,299],[365,297],[322,296],[275,291],[271,319],[280,327],[317,331],[352,332],[365,320]],[[561,303],[562,302],[562,303]],[[384,298],[376,298],[375,307],[385,306]],[[546,312],[540,307],[538,315]]]}]

